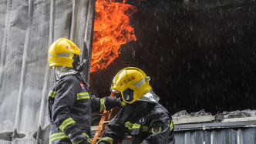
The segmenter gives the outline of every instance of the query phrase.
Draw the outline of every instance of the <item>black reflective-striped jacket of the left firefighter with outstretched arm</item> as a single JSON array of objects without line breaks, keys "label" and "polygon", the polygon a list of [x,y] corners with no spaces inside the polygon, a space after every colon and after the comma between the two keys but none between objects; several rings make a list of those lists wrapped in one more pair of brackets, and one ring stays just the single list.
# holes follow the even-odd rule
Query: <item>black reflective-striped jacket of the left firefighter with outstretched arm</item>
[{"label": "black reflective-striped jacket of the left firefighter with outstretched arm", "polygon": [[116,105],[115,98],[91,97],[79,74],[66,75],[49,92],[50,144],[90,143],[91,112],[103,112]]}]

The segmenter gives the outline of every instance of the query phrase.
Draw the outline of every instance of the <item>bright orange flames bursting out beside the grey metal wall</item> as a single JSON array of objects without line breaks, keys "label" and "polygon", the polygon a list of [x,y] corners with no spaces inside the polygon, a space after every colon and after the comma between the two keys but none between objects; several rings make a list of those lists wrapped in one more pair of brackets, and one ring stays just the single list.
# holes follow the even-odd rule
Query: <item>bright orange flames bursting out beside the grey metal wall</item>
[{"label": "bright orange flames bursting out beside the grey metal wall", "polygon": [[136,12],[136,7],[124,2],[96,1],[90,72],[105,69],[120,54],[120,45],[136,41],[130,26],[130,15]]}]

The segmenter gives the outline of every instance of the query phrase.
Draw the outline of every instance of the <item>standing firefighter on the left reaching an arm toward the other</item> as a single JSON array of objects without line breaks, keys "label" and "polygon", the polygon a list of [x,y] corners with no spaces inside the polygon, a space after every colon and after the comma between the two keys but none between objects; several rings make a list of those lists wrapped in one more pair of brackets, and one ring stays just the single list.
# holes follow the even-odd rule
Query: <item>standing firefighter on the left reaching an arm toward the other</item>
[{"label": "standing firefighter on the left reaching an arm toward the other", "polygon": [[[91,139],[91,112],[103,112],[120,105],[120,99],[91,97],[79,72],[80,49],[61,38],[49,48],[49,67],[56,84],[49,92],[50,144],[88,144]],[[85,63],[85,62],[84,62]]]}]

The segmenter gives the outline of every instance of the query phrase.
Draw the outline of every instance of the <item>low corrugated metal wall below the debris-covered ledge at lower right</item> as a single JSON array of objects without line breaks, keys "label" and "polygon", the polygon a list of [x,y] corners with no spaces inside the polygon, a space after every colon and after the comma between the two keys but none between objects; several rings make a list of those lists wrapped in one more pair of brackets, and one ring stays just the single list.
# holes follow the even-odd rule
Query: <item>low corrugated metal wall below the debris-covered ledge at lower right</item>
[{"label": "low corrugated metal wall below the debris-covered ledge at lower right", "polygon": [[255,144],[256,128],[207,129],[175,132],[179,144]]}]

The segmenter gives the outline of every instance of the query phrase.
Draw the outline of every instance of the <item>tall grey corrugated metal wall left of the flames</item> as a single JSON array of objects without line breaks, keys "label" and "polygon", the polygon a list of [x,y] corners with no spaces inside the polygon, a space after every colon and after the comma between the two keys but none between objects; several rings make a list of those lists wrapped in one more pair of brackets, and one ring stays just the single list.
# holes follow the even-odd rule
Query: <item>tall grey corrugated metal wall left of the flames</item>
[{"label": "tall grey corrugated metal wall left of the flames", "polygon": [[88,57],[94,2],[0,0],[0,143],[49,142],[49,45],[65,37]]}]

